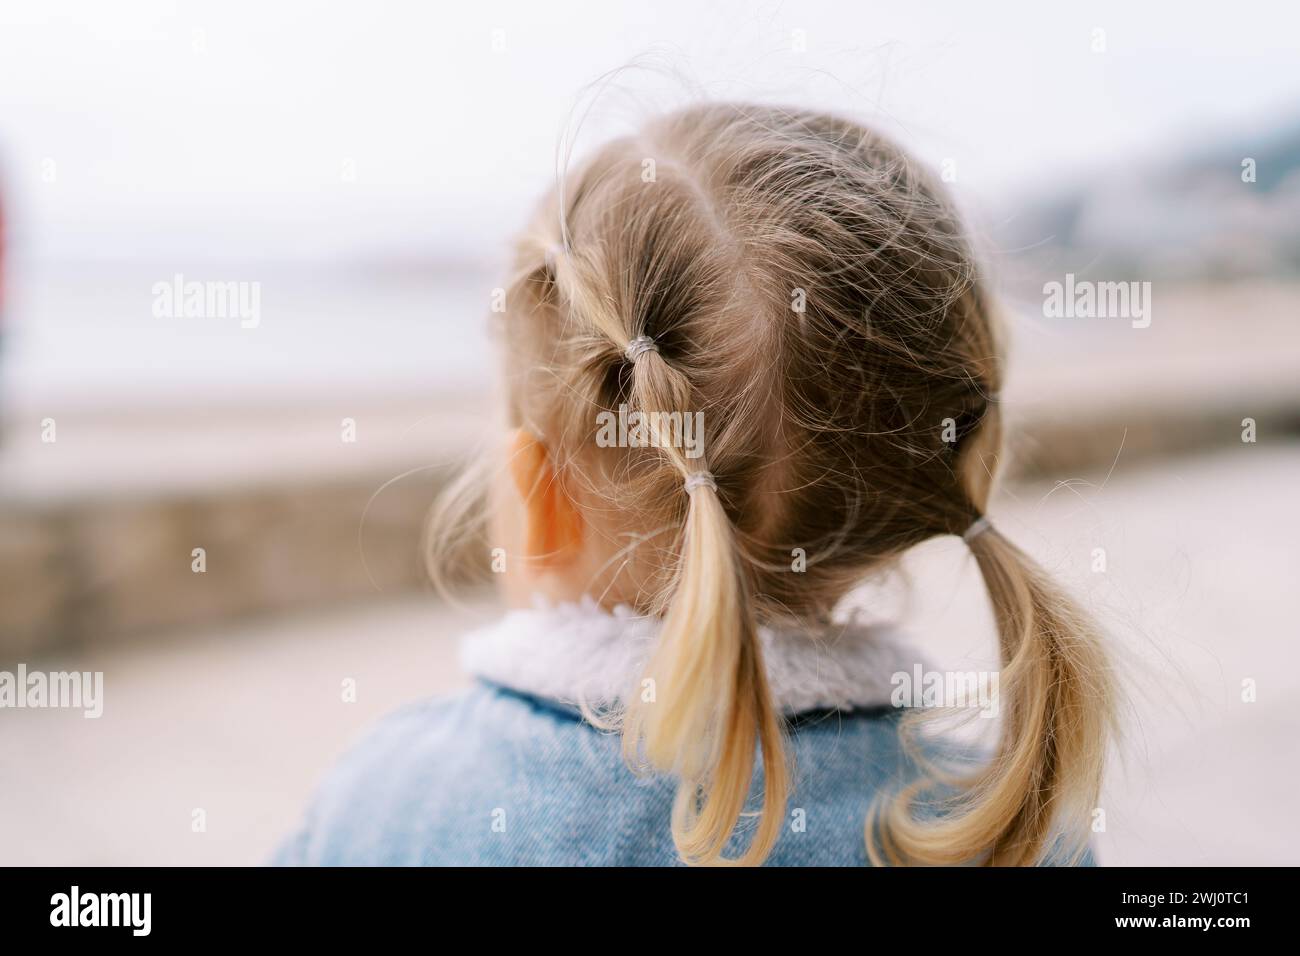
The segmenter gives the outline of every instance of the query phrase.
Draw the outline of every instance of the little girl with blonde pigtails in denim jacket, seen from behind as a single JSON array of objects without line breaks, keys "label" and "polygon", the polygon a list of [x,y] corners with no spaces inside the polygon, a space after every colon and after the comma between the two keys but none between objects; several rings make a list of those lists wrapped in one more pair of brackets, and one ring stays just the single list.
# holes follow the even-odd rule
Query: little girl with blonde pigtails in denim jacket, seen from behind
[{"label": "little girl with blonde pigtails in denim jacket, seen from behind", "polygon": [[[930,176],[833,116],[686,109],[563,179],[506,303],[508,455],[432,551],[463,568],[468,538],[515,610],[467,640],[471,689],[342,762],[281,862],[1087,858],[1110,670],[984,516],[993,306]],[[890,705],[915,652],[836,613],[936,535],[998,627],[976,762]]]}]

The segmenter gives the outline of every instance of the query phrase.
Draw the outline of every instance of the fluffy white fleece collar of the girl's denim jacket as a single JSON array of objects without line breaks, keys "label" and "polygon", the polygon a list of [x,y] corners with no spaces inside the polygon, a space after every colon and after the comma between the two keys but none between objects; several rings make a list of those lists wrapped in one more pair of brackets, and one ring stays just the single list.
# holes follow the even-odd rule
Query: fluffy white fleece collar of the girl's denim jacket
[{"label": "fluffy white fleece collar of the girl's denim jacket", "polygon": [[[628,607],[580,604],[514,610],[469,633],[460,661],[474,676],[514,691],[611,706],[636,685],[658,622]],[[889,706],[894,674],[922,658],[894,631],[855,620],[819,633],[759,628],[772,697],[785,714]]]}]

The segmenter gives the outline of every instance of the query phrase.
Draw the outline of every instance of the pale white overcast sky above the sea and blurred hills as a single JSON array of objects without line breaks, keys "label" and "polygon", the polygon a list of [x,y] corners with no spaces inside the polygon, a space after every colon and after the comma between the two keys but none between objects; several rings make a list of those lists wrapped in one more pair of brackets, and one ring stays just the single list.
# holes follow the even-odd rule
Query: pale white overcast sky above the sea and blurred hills
[{"label": "pale white overcast sky above the sea and blurred hills", "polygon": [[646,62],[580,148],[694,86],[852,111],[997,206],[1294,121],[1297,38],[1295,3],[0,0],[0,174],[42,260],[493,256]]}]

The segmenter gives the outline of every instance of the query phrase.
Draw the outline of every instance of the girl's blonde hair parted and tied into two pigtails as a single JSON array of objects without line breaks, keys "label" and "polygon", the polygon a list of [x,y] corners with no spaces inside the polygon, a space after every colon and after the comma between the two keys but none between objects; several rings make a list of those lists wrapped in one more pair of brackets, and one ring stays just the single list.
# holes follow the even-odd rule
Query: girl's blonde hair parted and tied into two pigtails
[{"label": "girl's blonde hair parted and tied into two pigtails", "polygon": [[[566,177],[516,267],[511,416],[543,436],[594,527],[633,536],[637,604],[663,615],[653,700],[627,701],[624,750],[679,778],[682,860],[762,862],[790,774],[759,620],[829,617],[988,502],[1002,362],[965,232],[937,183],[855,122],[708,104]],[[629,358],[646,336],[656,349]],[[598,412],[620,405],[702,411],[705,454],[597,450]],[[685,493],[701,472],[716,488]],[[437,558],[455,553],[433,542]],[[1062,830],[1082,845],[1096,803],[1110,714],[1098,636],[996,529],[971,550],[1000,633],[1001,740],[974,775],[922,760],[866,823],[878,862],[1034,862]],[[757,756],[762,806],[729,858]]]}]

